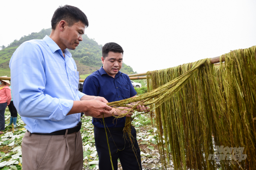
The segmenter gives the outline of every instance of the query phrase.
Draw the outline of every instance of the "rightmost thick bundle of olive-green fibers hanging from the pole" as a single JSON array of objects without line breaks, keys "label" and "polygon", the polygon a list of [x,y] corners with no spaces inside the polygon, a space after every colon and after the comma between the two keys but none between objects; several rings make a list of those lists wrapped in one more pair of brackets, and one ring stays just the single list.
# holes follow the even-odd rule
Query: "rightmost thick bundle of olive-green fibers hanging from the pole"
[{"label": "rightmost thick bundle of olive-green fibers hanging from the pole", "polygon": [[[224,147],[244,147],[243,154],[247,158],[241,162],[237,160],[231,165],[233,169],[256,169],[256,46],[234,50],[221,57],[225,65],[220,63],[219,67],[220,87],[226,102],[219,119],[227,123],[222,126],[227,133],[216,135]],[[218,126],[221,121],[217,122]],[[225,164],[222,167],[229,169]]]}]

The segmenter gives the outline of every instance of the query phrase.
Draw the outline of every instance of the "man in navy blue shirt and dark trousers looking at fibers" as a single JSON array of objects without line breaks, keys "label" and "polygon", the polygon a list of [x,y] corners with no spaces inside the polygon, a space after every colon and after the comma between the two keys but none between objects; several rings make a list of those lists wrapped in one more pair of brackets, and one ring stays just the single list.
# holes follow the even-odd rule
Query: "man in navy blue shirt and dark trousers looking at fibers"
[{"label": "man in navy blue shirt and dark trousers looking at fibers", "polygon": [[[103,67],[93,72],[85,79],[83,93],[104,97],[108,102],[135,97],[137,92],[134,90],[130,78],[128,75],[119,71],[122,68],[122,47],[114,42],[105,44],[102,47],[101,60]],[[140,107],[140,111],[146,109],[148,108],[144,106]],[[114,108],[111,113],[117,116],[120,112],[127,113],[125,110],[116,111]],[[130,117],[131,114],[132,113],[128,113],[126,116]],[[128,137],[126,139],[123,134],[125,118],[126,117],[115,119],[115,117],[111,115],[104,116],[105,123],[109,130],[107,130],[107,133],[113,166],[114,169],[117,170],[117,159],[119,158],[123,170],[142,170],[140,148],[136,139],[135,128],[132,127],[131,130],[131,134],[134,138],[133,143],[131,143]],[[99,169],[112,170],[102,115],[93,117],[92,123],[94,125],[95,146],[99,155]],[[135,152],[133,152],[132,145],[136,148]]]}]

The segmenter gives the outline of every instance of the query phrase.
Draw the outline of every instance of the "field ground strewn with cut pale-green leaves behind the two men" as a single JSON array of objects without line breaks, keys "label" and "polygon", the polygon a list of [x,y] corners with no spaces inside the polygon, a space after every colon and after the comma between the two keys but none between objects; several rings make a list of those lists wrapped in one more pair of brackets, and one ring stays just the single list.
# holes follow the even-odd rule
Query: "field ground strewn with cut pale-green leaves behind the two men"
[{"label": "field ground strewn with cut pale-green leaves behind the two men", "polygon": [[[6,126],[9,123],[10,116],[10,112],[8,108],[6,108]],[[94,143],[94,132],[91,117],[84,116],[81,120],[83,122],[81,135],[84,149],[84,170],[96,170],[98,169],[99,157]],[[142,156],[141,159],[143,170],[162,169],[156,142],[156,128],[151,125],[150,115],[139,115],[134,119],[133,125],[137,131],[137,140],[141,150],[140,154]],[[17,128],[14,129],[14,133],[12,132],[12,127],[7,126],[5,133],[0,135],[0,170],[22,169],[21,142],[26,132],[24,126],[24,122],[21,120],[20,116],[18,116]],[[118,163],[118,167],[118,169],[122,170],[120,162]],[[169,169],[173,168],[170,167]]]}]

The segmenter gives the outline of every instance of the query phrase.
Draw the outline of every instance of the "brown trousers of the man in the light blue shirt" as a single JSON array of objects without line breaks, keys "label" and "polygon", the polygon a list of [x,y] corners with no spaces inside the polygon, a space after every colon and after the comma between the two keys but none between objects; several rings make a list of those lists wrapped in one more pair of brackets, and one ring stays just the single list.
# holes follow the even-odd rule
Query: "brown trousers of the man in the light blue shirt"
[{"label": "brown trousers of the man in the light blue shirt", "polygon": [[21,150],[23,170],[82,170],[83,167],[80,131],[68,135],[26,132]]}]

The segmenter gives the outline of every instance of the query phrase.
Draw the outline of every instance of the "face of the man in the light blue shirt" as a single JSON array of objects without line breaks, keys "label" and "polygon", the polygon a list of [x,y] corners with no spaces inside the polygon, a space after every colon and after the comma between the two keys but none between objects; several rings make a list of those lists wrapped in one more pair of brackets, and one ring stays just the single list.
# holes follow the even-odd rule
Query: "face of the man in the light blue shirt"
[{"label": "face of the man in the light blue shirt", "polygon": [[71,27],[66,26],[61,36],[62,43],[69,50],[75,50],[79,42],[83,40],[84,30],[85,25],[81,21],[73,24]]}]

